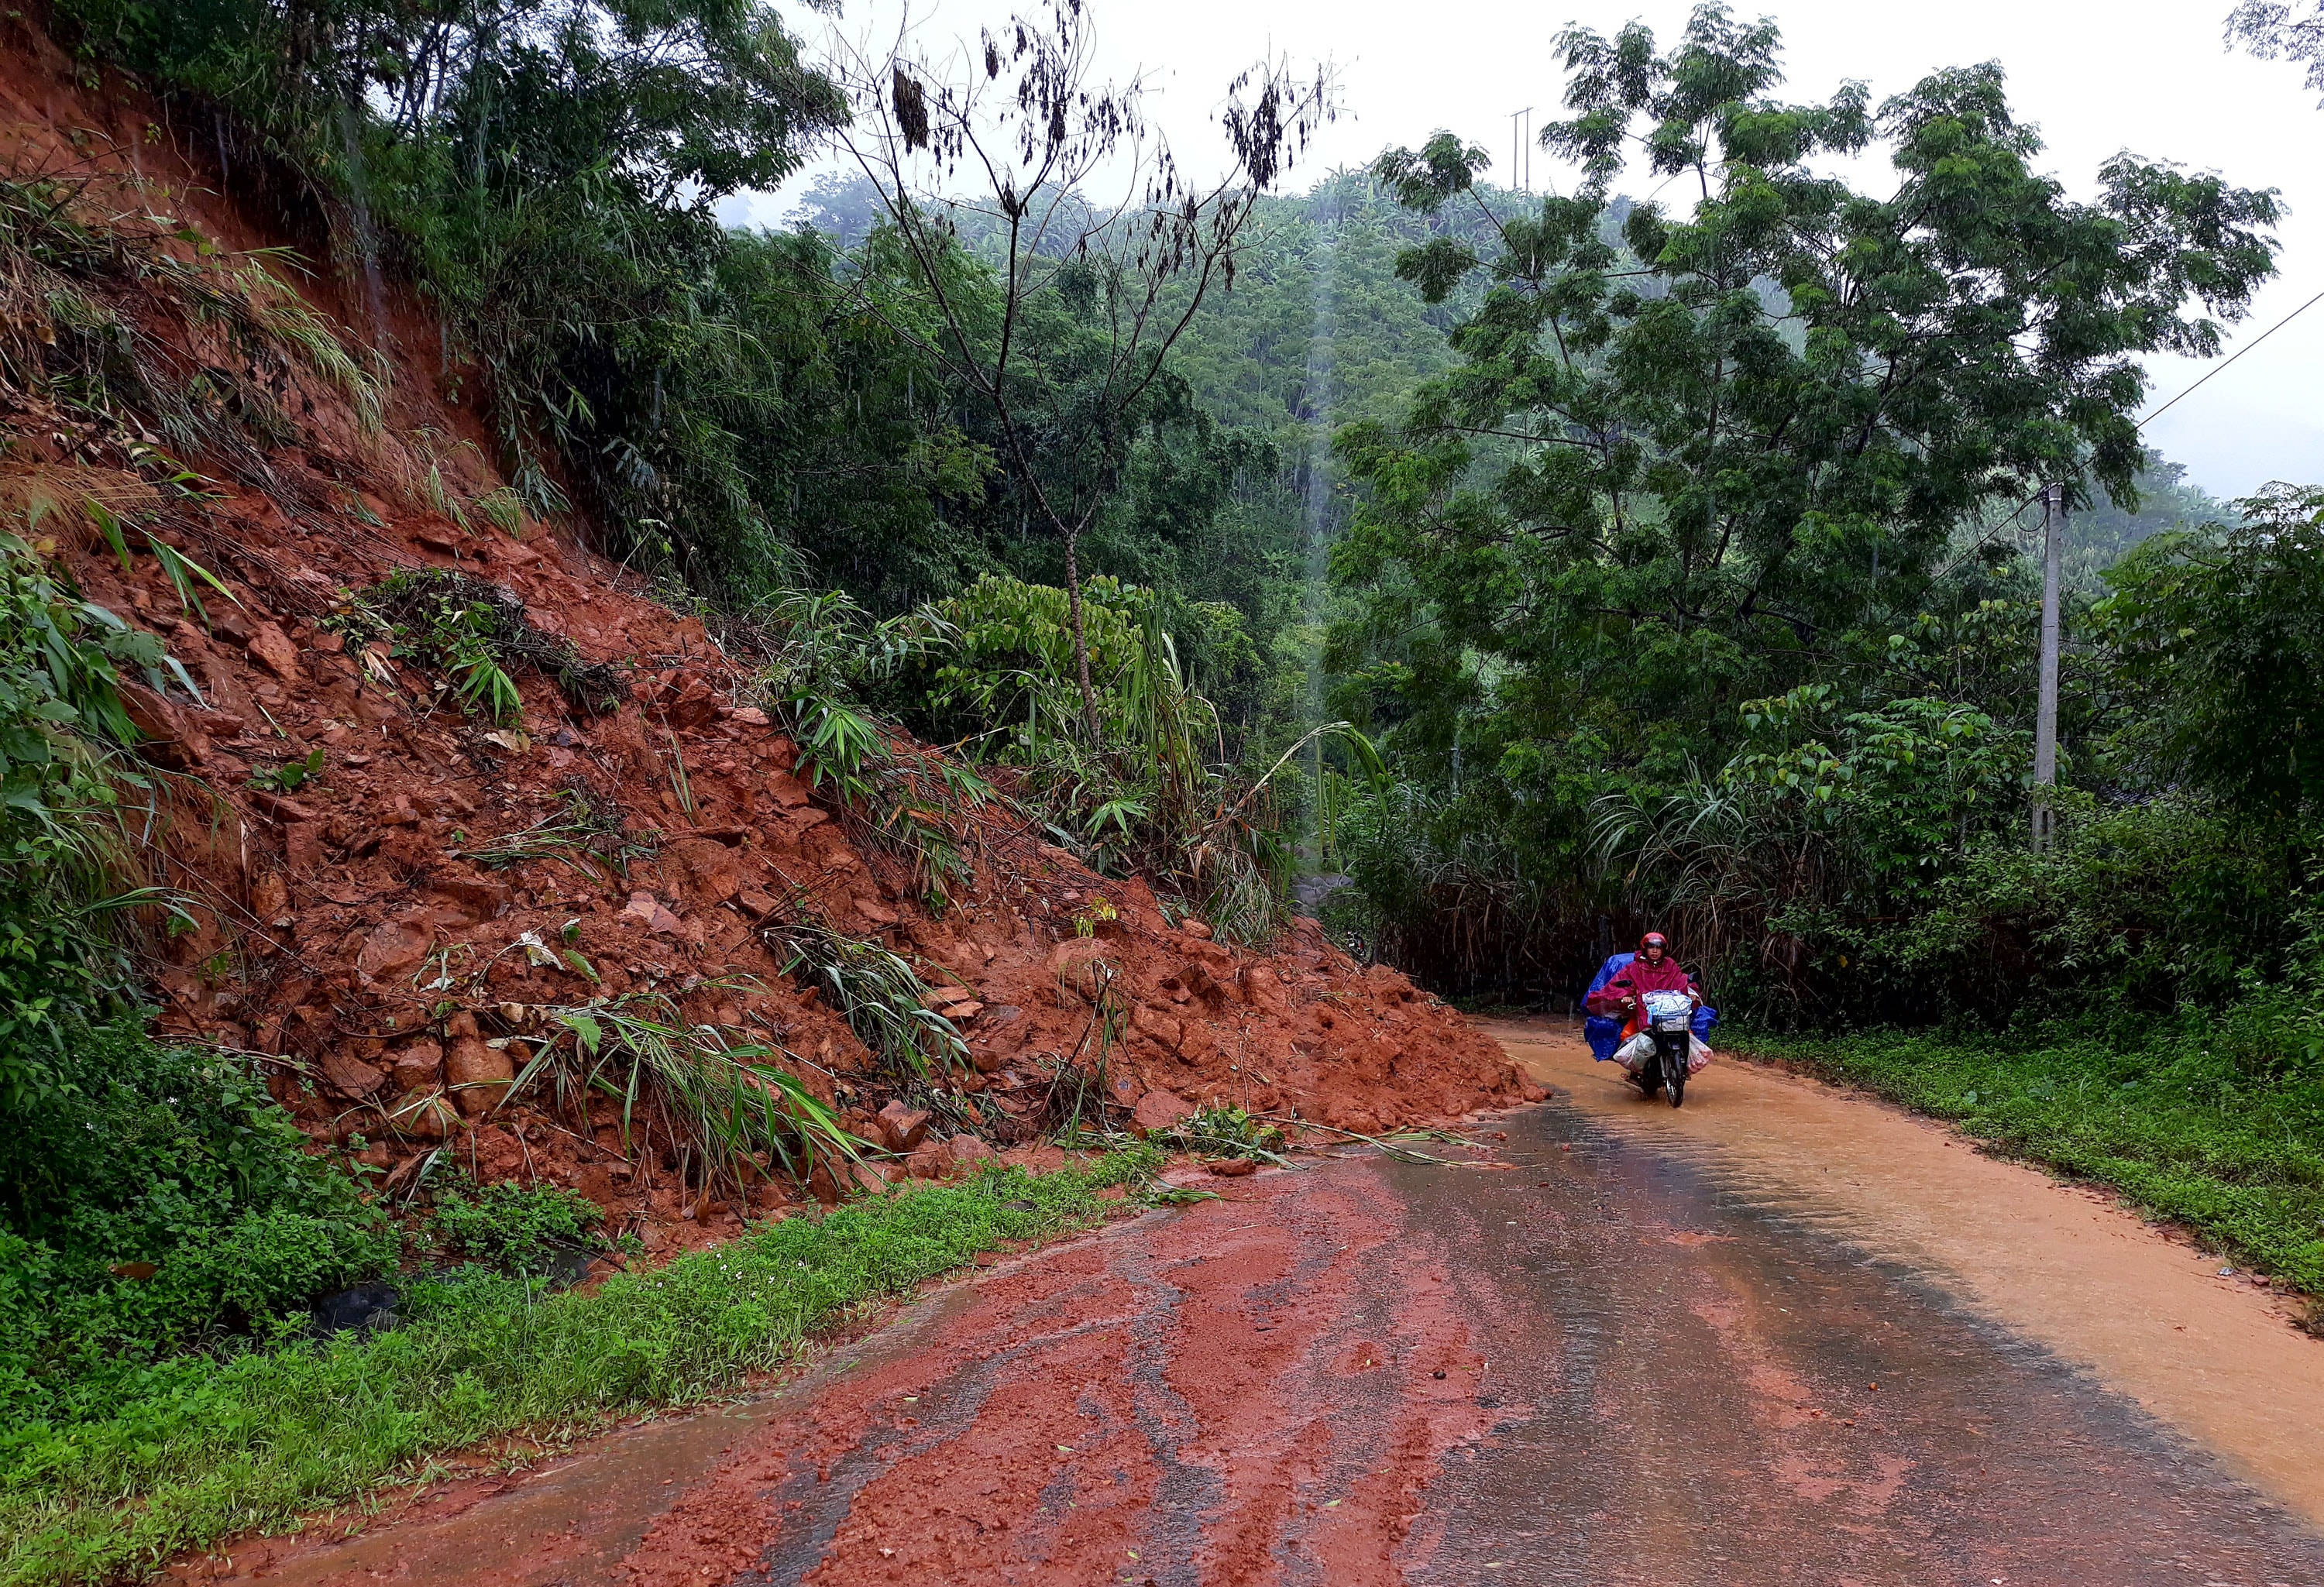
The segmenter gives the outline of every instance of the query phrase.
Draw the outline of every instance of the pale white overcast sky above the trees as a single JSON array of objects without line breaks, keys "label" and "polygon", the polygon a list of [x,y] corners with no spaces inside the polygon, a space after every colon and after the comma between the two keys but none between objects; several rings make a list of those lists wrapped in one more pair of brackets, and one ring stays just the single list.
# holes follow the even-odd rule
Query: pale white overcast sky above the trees
[{"label": "pale white overcast sky above the trees", "polygon": [[[1508,181],[1508,112],[1557,114],[1562,77],[1552,40],[1566,21],[1613,33],[1631,19],[1659,37],[1685,23],[1683,2],[1636,0],[1092,0],[1099,46],[1113,77],[1146,72],[1155,119],[1181,163],[1199,167],[1218,132],[1208,116],[1227,79],[1269,51],[1329,58],[1343,84],[1343,114],[1311,156],[1311,174],[1362,165],[1385,144],[1418,144],[1439,128],[1494,149],[1492,181]],[[2273,186],[2289,216],[2282,274],[2229,351],[2324,290],[2324,109],[2301,84],[2301,67],[2226,53],[2219,28],[2231,0],[1948,0],[1948,5],[1864,5],[1864,0],[1738,2],[1738,16],[1771,14],[1785,35],[1789,98],[1824,98],[1848,77],[1873,98],[1908,88],[1943,65],[1999,60],[2020,119],[2040,128],[2047,167],[2068,191],[2089,193],[2099,163],[2119,149],[2152,160],[2217,170],[2240,186]],[[913,5],[913,28],[930,46],[974,37],[1011,7],[992,0]],[[904,7],[848,0],[839,19],[851,37],[892,37]],[[795,14],[813,44],[830,23]],[[1522,177],[1522,172],[1520,172]],[[1571,188],[1536,149],[1536,188]],[[1297,184],[1304,186],[1304,184]],[[732,202],[734,221],[774,223],[783,195]],[[2154,360],[2161,404],[2208,362]],[[2154,421],[2150,441],[2187,465],[2215,495],[2243,495],[2271,479],[2324,481],[2324,302],[2268,337],[2203,390]]]}]

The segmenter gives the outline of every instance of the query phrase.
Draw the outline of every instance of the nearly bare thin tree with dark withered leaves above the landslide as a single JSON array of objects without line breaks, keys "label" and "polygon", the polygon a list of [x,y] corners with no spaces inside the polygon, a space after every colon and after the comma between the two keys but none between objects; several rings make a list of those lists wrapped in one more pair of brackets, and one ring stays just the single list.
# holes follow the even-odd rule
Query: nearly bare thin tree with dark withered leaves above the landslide
[{"label": "nearly bare thin tree with dark withered leaves above the landslide", "polygon": [[[1299,81],[1283,63],[1236,77],[1218,116],[1227,160],[1202,181],[1148,125],[1143,84],[1095,77],[1081,0],[1050,0],[978,44],[974,58],[941,65],[909,42],[881,58],[858,53],[855,119],[841,142],[878,188],[941,316],[927,349],[990,409],[1018,488],[1064,546],[1074,667],[1095,739],[1081,541],[1157,400],[1171,346],[1232,283],[1260,195],[1334,114],[1332,84],[1322,72]],[[983,193],[964,198],[962,181]],[[1092,198],[1099,191],[1111,202]],[[988,239],[995,277],[962,270],[964,216]],[[1041,335],[1037,321],[1055,314],[1085,335],[1057,325]]]}]

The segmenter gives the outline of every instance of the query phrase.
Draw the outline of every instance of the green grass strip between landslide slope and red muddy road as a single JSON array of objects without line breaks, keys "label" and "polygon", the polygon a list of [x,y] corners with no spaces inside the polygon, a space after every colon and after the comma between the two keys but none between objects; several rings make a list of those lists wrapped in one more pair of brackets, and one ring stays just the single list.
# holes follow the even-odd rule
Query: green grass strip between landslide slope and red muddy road
[{"label": "green grass strip between landslide slope and red muddy road", "polygon": [[467,1271],[416,1283],[407,1324],[156,1378],[102,1420],[0,1431],[0,1582],[102,1582],[353,1499],[488,1438],[569,1436],[688,1406],[795,1359],[848,1308],[976,1252],[1095,1225],[1097,1192],[1150,1155],[1081,1173],[985,1173],[755,1227],[590,1294]]}]

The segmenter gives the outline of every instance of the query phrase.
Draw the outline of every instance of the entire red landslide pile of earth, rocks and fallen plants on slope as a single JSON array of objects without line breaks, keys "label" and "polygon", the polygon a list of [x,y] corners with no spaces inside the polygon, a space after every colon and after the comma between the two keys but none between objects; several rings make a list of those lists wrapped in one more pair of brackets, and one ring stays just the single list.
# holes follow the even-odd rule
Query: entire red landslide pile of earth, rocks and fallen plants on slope
[{"label": "entire red landslide pile of earth, rocks and fallen plants on slope", "polygon": [[[944,811],[932,904],[911,830],[760,697],[769,655],[528,518],[428,328],[293,283],[167,142],[132,167],[146,112],[7,77],[0,527],[179,665],[123,683],[142,860],[188,899],[158,1025],[277,1060],[318,1143],[390,1192],[562,1183],[651,1248],[1064,1127],[1525,1092],[1311,922],[1215,941],[1006,799]],[[112,418],[42,383],[84,365]]]}]

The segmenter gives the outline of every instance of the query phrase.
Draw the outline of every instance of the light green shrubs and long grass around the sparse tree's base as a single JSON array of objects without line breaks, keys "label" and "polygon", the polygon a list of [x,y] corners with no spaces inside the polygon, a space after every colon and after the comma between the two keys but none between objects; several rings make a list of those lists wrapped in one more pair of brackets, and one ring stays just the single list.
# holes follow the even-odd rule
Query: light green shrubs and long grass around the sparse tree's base
[{"label": "light green shrubs and long grass around the sparse tree's base", "polygon": [[969,762],[1016,769],[1009,804],[1099,871],[1141,871],[1225,936],[1264,939],[1283,920],[1292,869],[1276,778],[1322,739],[1373,781],[1378,753],[1348,723],[1329,723],[1274,762],[1229,764],[1218,709],[1188,681],[1164,602],[1113,579],[1092,579],[1085,595],[1097,741],[1071,672],[1064,590],[1002,576],[878,623],[846,595],[783,597],[762,623],[776,660],[758,695],[797,739],[806,783],[853,836],[904,857],[932,904],[974,883],[976,813],[999,795],[971,764],[911,748],[871,713],[871,690],[918,695],[923,727]]}]

